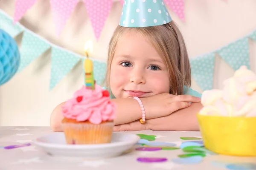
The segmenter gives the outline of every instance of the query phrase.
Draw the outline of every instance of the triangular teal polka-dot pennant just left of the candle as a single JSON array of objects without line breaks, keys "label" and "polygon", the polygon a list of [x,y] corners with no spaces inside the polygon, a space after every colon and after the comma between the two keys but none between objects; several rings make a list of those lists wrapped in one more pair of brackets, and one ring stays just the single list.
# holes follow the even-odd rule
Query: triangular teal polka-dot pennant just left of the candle
[{"label": "triangular teal polka-dot pennant just left of the candle", "polygon": [[80,57],[65,50],[52,47],[50,90],[79,62]]}]

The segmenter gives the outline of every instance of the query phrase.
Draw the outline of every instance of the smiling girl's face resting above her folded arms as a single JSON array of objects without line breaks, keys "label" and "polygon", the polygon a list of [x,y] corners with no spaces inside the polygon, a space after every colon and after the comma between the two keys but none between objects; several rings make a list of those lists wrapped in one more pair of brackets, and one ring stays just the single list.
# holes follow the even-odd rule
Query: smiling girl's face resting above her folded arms
[{"label": "smiling girl's face resting above her folded arms", "polygon": [[163,59],[146,37],[127,32],[116,45],[110,88],[116,98],[169,93],[169,74]]}]

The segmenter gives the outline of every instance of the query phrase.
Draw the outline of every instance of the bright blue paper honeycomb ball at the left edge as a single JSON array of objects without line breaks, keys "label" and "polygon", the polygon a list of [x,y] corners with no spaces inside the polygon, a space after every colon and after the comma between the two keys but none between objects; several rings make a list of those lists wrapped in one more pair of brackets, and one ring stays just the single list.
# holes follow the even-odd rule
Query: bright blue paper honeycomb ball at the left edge
[{"label": "bright blue paper honeycomb ball at the left edge", "polygon": [[20,65],[20,52],[16,41],[0,29],[0,85],[8,82]]}]

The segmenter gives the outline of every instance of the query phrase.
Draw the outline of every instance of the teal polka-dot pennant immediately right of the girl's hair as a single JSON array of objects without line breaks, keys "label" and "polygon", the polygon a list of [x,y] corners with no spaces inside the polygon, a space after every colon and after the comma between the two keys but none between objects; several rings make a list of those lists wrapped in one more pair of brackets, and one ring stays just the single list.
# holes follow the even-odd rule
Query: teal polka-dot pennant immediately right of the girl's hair
[{"label": "teal polka-dot pennant immediately right of the girl's hair", "polygon": [[213,87],[215,53],[204,54],[190,59],[191,75],[200,88],[210,90]]}]

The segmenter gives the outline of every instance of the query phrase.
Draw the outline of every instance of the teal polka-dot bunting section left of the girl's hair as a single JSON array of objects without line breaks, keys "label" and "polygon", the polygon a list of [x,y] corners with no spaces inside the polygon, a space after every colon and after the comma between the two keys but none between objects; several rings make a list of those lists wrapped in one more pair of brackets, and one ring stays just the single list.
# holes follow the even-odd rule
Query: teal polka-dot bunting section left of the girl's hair
[{"label": "teal polka-dot bunting section left of the girl's hair", "polygon": [[[61,48],[34,32],[22,26],[20,23],[13,25],[13,20],[4,11],[0,10],[0,29],[3,29],[12,37],[23,32],[20,45],[20,66],[18,73],[26,68],[45,51],[51,49],[51,75],[49,89],[57,85],[84,57],[67,49]],[[101,84],[105,78],[106,62],[92,59],[94,75],[97,84]]]}]

